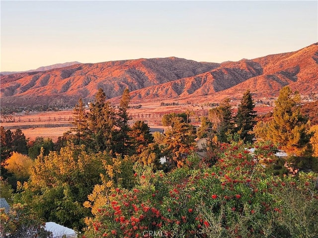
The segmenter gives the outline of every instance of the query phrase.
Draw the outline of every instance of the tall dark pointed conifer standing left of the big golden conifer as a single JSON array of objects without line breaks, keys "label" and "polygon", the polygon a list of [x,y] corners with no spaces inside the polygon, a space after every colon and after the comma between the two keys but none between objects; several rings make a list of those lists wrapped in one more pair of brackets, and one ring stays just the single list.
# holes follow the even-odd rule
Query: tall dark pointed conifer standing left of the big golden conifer
[{"label": "tall dark pointed conifer standing left of the big golden conifer", "polygon": [[236,123],[235,132],[239,134],[239,137],[244,142],[252,142],[254,135],[252,130],[256,124],[255,117],[256,111],[254,111],[255,104],[253,103],[252,95],[247,90],[240,101],[238,107],[238,113],[234,118]]}]

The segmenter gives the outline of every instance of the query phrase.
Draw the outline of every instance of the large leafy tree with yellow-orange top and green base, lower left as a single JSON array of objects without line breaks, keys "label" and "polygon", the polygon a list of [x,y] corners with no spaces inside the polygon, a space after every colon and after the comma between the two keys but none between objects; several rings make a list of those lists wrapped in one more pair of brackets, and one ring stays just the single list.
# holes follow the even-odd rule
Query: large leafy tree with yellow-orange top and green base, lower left
[{"label": "large leafy tree with yellow-orange top and green base, lower left", "polygon": [[89,210],[82,206],[103,173],[105,153],[87,154],[84,146],[68,144],[60,152],[42,153],[31,168],[30,179],[15,201],[29,204],[39,217],[81,229]]}]

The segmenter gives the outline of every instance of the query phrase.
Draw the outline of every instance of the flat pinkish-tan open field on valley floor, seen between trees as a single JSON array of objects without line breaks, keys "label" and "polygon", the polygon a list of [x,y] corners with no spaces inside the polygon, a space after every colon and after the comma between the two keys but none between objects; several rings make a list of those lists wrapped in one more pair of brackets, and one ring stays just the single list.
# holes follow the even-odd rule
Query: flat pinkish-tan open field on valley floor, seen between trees
[{"label": "flat pinkish-tan open field on valley floor, seen between trees", "polygon": [[[137,105],[132,105],[137,106]],[[163,128],[161,118],[168,113],[181,113],[187,110],[194,112],[195,116],[207,116],[210,107],[195,105],[160,106],[160,103],[145,103],[139,109],[130,109],[132,117],[130,123],[137,120],[144,120],[151,128]],[[259,114],[264,114],[272,110],[270,107],[255,108]],[[234,110],[235,111],[235,110]],[[15,130],[20,128],[26,138],[34,140],[36,137],[50,137],[57,141],[59,136],[72,128],[73,110],[60,112],[41,112],[29,114],[14,114],[1,116],[1,125],[5,129]],[[192,117],[193,123],[195,116]]]}]

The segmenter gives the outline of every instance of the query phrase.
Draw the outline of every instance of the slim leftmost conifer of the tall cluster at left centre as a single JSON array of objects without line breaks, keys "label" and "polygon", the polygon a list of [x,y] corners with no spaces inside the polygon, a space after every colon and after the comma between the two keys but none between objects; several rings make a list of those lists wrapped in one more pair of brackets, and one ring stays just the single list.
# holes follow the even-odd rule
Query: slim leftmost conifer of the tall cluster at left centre
[{"label": "slim leftmost conifer of the tall cluster at left centre", "polygon": [[75,106],[73,113],[73,124],[76,126],[73,130],[78,137],[78,143],[82,144],[88,130],[87,114],[82,99],[79,99],[79,103]]}]

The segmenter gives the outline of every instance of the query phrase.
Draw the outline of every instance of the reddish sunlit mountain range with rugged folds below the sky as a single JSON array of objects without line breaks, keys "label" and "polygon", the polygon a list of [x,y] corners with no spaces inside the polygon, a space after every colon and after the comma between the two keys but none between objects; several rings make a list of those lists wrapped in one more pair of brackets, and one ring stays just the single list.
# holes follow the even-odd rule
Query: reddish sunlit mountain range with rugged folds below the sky
[{"label": "reddish sunlit mountain range with rugged folds below the sky", "polygon": [[318,94],[318,43],[296,52],[238,62],[196,62],[171,58],[76,64],[1,77],[1,106],[75,105],[93,100],[99,88],[116,102],[129,88],[132,102],[220,101],[275,97],[290,85],[303,95]]}]

